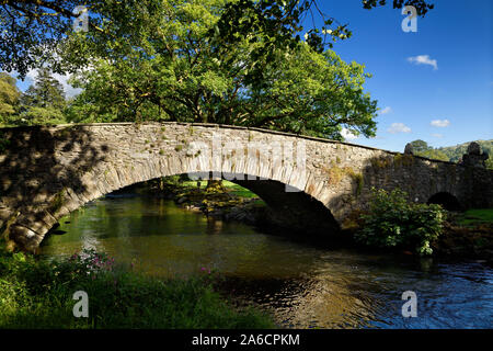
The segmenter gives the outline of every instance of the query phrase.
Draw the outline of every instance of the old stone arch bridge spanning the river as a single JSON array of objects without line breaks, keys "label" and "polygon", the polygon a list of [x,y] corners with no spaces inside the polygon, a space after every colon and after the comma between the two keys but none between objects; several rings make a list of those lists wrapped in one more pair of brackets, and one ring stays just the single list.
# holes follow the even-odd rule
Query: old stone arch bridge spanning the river
[{"label": "old stone arch bridge spanning the river", "polygon": [[328,139],[213,124],[15,127],[0,129],[0,233],[35,251],[60,217],[85,203],[190,172],[234,178],[279,223],[319,235],[365,208],[371,186],[401,188],[416,202],[493,206],[493,171]]}]

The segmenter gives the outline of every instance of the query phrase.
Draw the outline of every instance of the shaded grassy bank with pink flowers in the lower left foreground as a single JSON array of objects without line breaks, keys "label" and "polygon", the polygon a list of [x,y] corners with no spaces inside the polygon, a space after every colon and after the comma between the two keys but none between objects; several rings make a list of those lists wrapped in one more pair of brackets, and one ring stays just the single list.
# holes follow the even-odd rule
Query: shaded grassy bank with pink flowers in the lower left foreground
[{"label": "shaded grassy bank with pink flowers in the lower left foreground", "polygon": [[[88,293],[88,318],[73,316],[76,291]],[[0,328],[273,327],[270,317],[225,302],[210,275],[161,281],[93,251],[64,261],[0,252]]]}]

